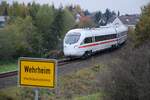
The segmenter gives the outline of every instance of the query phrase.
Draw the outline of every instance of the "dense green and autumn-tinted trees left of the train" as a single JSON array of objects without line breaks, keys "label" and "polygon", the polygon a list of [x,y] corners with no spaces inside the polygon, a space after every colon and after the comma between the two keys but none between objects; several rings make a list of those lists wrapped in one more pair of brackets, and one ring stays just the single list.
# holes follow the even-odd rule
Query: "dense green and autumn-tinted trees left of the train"
[{"label": "dense green and autumn-tinted trees left of the train", "polygon": [[75,25],[68,8],[56,9],[35,2],[27,5],[1,2],[0,15],[8,16],[6,26],[0,29],[0,59],[42,57],[57,49],[65,32]]}]

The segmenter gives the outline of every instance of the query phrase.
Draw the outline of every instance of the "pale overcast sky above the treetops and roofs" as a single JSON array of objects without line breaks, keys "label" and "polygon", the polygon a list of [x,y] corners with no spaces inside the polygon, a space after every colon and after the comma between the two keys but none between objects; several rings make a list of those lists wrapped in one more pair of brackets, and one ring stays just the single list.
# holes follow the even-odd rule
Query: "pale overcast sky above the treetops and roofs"
[{"label": "pale overcast sky above the treetops and roofs", "polygon": [[[2,1],[2,0],[0,0]],[[90,12],[102,11],[104,12],[106,8],[120,11],[121,14],[137,14],[141,12],[141,7],[146,5],[150,0],[5,0],[9,3],[12,1],[18,2],[32,2],[35,1],[40,4],[54,4],[55,7],[59,7],[60,4],[63,6],[70,4],[79,4],[82,9],[88,9]]]}]

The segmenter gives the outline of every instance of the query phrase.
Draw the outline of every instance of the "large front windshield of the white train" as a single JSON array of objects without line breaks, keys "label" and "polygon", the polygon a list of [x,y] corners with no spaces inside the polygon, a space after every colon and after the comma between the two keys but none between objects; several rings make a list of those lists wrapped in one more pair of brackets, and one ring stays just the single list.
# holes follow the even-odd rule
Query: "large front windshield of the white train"
[{"label": "large front windshield of the white train", "polygon": [[66,36],[65,38],[65,43],[66,44],[74,44],[74,43],[77,43],[78,40],[80,38],[80,33],[74,33],[74,34],[69,34]]}]

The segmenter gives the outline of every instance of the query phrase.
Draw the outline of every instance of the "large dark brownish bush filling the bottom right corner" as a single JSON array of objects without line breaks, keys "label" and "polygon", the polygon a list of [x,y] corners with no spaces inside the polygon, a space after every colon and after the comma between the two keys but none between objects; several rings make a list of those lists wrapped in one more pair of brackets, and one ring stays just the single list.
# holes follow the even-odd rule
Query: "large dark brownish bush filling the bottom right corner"
[{"label": "large dark brownish bush filling the bottom right corner", "polygon": [[[102,76],[104,90],[112,100],[149,100],[150,43],[138,48],[125,48],[108,64]],[[109,81],[108,81],[109,79]]]}]

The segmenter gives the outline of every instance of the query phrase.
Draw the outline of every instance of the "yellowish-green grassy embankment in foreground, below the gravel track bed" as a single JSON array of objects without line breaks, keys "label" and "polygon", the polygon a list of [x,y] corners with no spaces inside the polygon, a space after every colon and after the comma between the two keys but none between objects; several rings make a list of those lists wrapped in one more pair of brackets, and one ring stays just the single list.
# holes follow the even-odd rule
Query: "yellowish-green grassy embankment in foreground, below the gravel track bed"
[{"label": "yellowish-green grassy embankment in foreground, below the gravel track bed", "polygon": [[[40,100],[102,100],[106,96],[100,83],[100,74],[106,66],[96,65],[90,68],[58,77],[58,87],[55,90],[40,89]],[[0,90],[0,99],[32,100],[32,88],[11,87]]]}]

